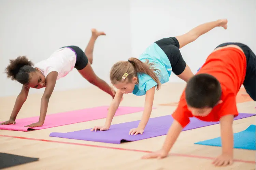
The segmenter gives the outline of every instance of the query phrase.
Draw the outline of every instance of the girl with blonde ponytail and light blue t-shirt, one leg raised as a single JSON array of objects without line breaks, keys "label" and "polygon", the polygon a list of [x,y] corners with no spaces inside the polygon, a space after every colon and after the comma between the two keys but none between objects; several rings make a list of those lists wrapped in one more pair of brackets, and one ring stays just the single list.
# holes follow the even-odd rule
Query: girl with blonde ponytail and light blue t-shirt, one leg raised
[{"label": "girl with blonde ponytail and light blue t-shirt, one leg raised", "polygon": [[182,58],[180,48],[195,41],[199,36],[215,27],[227,29],[227,20],[220,19],[197,26],[186,34],[163,38],[151,44],[138,58],[129,58],[113,65],[110,71],[111,83],[117,89],[104,126],[95,126],[91,131],[108,130],[123,94],[146,95],[145,109],[137,128],[131,129],[130,135],[142,134],[150,118],[155,89],[169,81],[171,72],[187,82],[193,73]]}]

